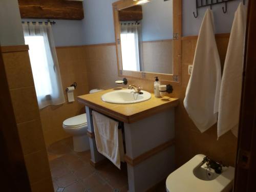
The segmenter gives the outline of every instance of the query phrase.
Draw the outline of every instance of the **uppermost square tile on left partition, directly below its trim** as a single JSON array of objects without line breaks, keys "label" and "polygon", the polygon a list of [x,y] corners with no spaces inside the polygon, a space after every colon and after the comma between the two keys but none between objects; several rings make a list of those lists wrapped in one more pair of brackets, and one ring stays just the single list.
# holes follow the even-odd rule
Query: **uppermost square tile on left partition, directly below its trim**
[{"label": "uppermost square tile on left partition, directly below its trim", "polygon": [[34,86],[27,51],[3,54],[10,89]]}]

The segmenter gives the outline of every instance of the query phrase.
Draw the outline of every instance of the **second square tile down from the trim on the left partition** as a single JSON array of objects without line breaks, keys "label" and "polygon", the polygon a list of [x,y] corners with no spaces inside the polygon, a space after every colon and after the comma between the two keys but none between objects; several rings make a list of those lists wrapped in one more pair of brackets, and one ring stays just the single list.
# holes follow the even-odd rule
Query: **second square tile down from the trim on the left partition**
[{"label": "second square tile down from the trim on the left partition", "polygon": [[38,104],[34,87],[10,90],[17,123],[39,118]]}]

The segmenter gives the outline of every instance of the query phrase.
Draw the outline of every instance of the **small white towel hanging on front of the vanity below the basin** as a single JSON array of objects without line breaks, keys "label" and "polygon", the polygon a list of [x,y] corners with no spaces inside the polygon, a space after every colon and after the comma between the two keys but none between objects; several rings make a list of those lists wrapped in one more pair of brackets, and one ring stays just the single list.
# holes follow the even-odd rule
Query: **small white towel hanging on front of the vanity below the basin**
[{"label": "small white towel hanging on front of the vanity below the basin", "polygon": [[98,152],[119,169],[124,159],[122,131],[118,122],[93,111],[93,125]]}]

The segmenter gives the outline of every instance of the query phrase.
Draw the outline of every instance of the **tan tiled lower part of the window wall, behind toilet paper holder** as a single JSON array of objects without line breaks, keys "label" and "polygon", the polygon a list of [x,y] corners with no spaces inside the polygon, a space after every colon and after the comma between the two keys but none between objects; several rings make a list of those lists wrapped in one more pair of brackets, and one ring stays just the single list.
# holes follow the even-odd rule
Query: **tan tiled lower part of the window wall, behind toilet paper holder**
[{"label": "tan tiled lower part of the window wall, behind toilet paper holder", "polygon": [[58,106],[47,106],[40,110],[42,129],[47,145],[70,137],[63,131],[62,122],[67,118],[85,113],[84,106],[78,104],[77,101],[68,102],[65,91],[73,82],[77,82],[77,88],[74,91],[75,100],[78,95],[89,93],[85,47],[59,47],[56,49],[66,103]]}]

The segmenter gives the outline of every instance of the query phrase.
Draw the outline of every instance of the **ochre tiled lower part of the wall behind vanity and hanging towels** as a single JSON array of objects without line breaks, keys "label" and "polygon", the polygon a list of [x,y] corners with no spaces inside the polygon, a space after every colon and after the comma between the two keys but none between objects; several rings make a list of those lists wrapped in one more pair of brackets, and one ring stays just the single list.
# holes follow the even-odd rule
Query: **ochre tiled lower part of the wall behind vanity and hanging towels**
[{"label": "ochre tiled lower part of the wall behind vanity and hanging towels", "polygon": [[[196,44],[196,38],[182,41],[182,83],[181,86],[174,86],[174,93],[170,94],[170,96],[180,98],[180,105],[175,110],[177,166],[181,166],[190,158],[200,153],[209,155],[218,161],[223,161],[227,165],[234,165],[236,137],[231,133],[227,133],[217,141],[216,126],[201,134],[193,121],[188,117],[183,106],[183,99],[190,77],[187,68],[188,65],[193,64]],[[227,44],[227,37],[217,38],[222,62],[225,59]],[[122,77],[118,77],[116,60],[110,59],[116,57],[116,52],[112,48],[115,48],[115,46],[86,46],[89,89],[120,87],[114,83],[116,79],[122,79]],[[108,54],[113,55],[106,56]],[[128,81],[129,84],[140,84],[146,91],[154,91],[153,80],[128,78]]]}]

